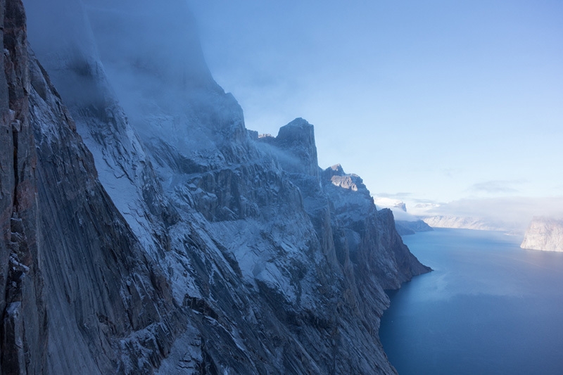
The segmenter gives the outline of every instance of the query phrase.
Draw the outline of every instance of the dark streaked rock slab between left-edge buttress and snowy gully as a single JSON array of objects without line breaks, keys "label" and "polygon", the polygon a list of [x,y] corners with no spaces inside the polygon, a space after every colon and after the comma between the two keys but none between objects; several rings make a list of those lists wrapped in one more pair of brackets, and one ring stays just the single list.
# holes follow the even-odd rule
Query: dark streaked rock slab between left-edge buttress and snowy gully
[{"label": "dark streaked rock slab between left-edge buttress and snowy gully", "polygon": [[[96,178],[44,70],[32,61],[30,72],[49,372],[151,372],[175,336],[170,288]],[[124,347],[139,331],[144,341]]]}]

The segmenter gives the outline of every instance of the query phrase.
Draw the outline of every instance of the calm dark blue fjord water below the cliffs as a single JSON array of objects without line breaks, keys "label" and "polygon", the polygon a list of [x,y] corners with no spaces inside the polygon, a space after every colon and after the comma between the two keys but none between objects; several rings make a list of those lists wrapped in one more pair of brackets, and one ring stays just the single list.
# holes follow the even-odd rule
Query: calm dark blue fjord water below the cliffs
[{"label": "calm dark blue fjord water below the cliffs", "polygon": [[563,253],[495,231],[403,241],[434,272],[391,292],[381,319],[399,374],[563,374]]}]

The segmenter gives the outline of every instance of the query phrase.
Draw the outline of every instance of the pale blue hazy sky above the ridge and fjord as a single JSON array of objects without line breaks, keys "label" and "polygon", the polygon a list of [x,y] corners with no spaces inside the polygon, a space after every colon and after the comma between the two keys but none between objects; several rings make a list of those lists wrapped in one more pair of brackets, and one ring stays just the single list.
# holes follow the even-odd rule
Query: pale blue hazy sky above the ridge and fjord
[{"label": "pale blue hazy sky above the ridge and fjord", "polygon": [[305,118],[321,167],[407,210],[563,215],[563,1],[187,1],[248,129]]}]

